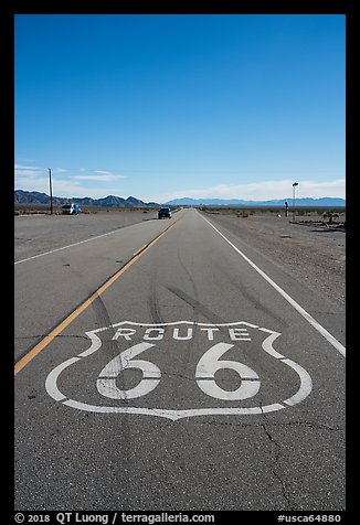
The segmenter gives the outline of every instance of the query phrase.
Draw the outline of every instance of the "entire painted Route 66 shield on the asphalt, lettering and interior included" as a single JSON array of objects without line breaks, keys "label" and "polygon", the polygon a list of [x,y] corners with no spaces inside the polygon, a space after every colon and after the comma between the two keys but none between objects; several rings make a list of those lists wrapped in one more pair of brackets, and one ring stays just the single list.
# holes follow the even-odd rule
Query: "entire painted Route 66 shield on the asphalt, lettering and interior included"
[{"label": "entire painted Route 66 shield on the asphalt, lettering and interior included", "polygon": [[87,347],[45,382],[55,401],[78,410],[254,415],[293,407],[313,388],[306,369],[274,349],[280,333],[245,321],[123,321],[86,336]]}]

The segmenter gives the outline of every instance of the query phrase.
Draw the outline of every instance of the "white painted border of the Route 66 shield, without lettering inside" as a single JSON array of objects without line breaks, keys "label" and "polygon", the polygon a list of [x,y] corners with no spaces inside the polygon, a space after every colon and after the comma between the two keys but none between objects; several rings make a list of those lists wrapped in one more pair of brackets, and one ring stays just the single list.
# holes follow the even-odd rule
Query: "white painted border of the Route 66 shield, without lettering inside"
[{"label": "white painted border of the Route 66 shield, without lettering inside", "polygon": [[[146,328],[162,328],[162,326],[171,326],[178,324],[188,324],[192,326],[239,326],[244,325],[252,329],[260,330],[262,332],[268,333],[268,336],[263,341],[262,349],[269,354],[271,356],[275,357],[276,360],[280,361],[285,365],[293,368],[296,374],[299,376],[300,379],[300,387],[299,389],[289,398],[282,400],[280,403],[274,403],[272,405],[265,406],[254,406],[254,407],[246,407],[246,408],[194,408],[194,409],[162,409],[162,408],[140,408],[140,407],[129,407],[129,406],[103,406],[103,405],[88,405],[86,403],[76,401],[75,399],[68,399],[64,394],[62,394],[57,387],[57,378],[60,374],[68,368],[74,363],[88,357],[94,352],[97,352],[102,346],[102,340],[97,335],[99,332],[104,332],[105,330],[115,329],[121,326],[124,324],[129,324],[133,326],[146,326]],[[171,419],[176,421],[181,418],[186,417],[193,417],[193,416],[244,416],[244,415],[257,415],[257,414],[267,414],[276,410],[280,410],[286,407],[294,407],[301,403],[311,392],[313,389],[313,381],[309,374],[306,372],[303,366],[297,364],[295,361],[287,358],[285,355],[279,354],[273,347],[274,341],[282,335],[279,332],[275,332],[273,330],[268,330],[265,328],[257,326],[255,324],[251,324],[245,321],[237,321],[232,323],[218,323],[218,324],[208,324],[208,323],[197,323],[191,321],[174,321],[170,323],[138,323],[133,321],[121,321],[119,323],[112,324],[109,326],[104,326],[95,330],[91,330],[85,332],[85,334],[89,338],[92,344],[91,346],[78,354],[76,357],[71,357],[70,360],[64,361],[60,365],[57,365],[46,377],[45,381],[45,388],[47,394],[55,400],[60,401],[63,405],[66,405],[72,408],[76,408],[78,410],[85,410],[89,413],[99,413],[99,414],[134,414],[134,415],[144,415],[144,416],[158,416],[163,417],[167,419]]]}]

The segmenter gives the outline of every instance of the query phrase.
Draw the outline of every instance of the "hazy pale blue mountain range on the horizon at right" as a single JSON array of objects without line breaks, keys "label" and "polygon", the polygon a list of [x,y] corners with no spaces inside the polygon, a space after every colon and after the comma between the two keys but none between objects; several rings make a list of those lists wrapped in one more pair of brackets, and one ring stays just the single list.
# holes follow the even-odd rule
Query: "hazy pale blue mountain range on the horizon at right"
[{"label": "hazy pale blue mountain range on the horizon at right", "polygon": [[[169,206],[200,206],[200,205],[213,205],[213,206],[285,206],[285,202],[287,201],[288,205],[292,206],[293,200],[292,199],[279,199],[275,201],[242,201],[239,199],[173,199],[172,201],[168,201],[163,204],[168,204]],[[296,206],[326,206],[326,207],[338,207],[338,206],[346,206],[345,199],[338,197],[321,197],[321,199],[313,199],[313,197],[304,197],[304,199],[296,199],[295,202]]]}]

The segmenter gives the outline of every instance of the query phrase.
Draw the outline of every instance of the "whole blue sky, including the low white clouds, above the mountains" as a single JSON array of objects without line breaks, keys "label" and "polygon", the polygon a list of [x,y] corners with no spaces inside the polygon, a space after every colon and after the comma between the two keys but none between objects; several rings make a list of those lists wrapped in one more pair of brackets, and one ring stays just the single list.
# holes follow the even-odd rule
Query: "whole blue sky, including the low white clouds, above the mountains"
[{"label": "whole blue sky, including the low white clouds, above the mountains", "polygon": [[345,197],[342,14],[15,15],[15,189]]}]

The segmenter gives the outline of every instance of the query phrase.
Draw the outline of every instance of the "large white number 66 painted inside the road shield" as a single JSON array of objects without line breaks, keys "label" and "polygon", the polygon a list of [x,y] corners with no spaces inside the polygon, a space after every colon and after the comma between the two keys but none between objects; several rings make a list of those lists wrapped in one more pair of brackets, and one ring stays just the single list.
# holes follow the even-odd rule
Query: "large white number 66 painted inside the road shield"
[{"label": "large white number 66 painted inside the road shield", "polygon": [[[149,361],[134,360],[134,357],[152,346],[155,344],[139,343],[114,357],[102,369],[97,379],[96,387],[99,394],[110,399],[135,399],[152,392],[160,383],[160,369]],[[211,346],[200,358],[197,366],[195,381],[201,390],[208,396],[224,400],[240,400],[247,399],[257,394],[261,383],[258,375],[252,368],[235,361],[220,360],[233,346],[233,344],[218,343]],[[116,378],[124,369],[128,368],[140,369],[142,378],[134,388],[124,390],[116,385]],[[236,390],[227,392],[216,384],[215,373],[223,368],[233,369],[239,374],[241,385]]]}]

